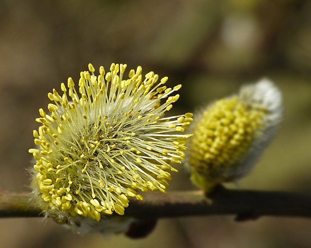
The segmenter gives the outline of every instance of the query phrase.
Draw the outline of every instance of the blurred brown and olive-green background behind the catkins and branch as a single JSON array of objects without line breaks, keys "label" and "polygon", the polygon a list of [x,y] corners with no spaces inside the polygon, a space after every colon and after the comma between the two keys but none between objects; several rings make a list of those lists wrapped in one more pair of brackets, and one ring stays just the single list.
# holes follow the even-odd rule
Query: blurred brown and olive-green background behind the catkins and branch
[{"label": "blurred brown and olive-green background behind the catkins and branch", "polygon": [[[0,0],[0,188],[25,191],[47,93],[88,63],[142,65],[182,83],[171,111],[195,111],[264,76],[284,96],[282,128],[237,186],[311,192],[308,0]],[[168,191],[195,189],[181,167]],[[145,239],[78,236],[39,218],[0,220],[0,247],[311,247],[311,220],[162,219]]]}]

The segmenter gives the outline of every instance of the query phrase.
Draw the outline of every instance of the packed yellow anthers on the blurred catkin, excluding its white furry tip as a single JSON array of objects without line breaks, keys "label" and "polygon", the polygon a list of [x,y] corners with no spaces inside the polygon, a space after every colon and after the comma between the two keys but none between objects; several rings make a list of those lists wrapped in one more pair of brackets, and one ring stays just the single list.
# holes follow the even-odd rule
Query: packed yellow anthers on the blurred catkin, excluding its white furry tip
[{"label": "packed yellow anthers on the blurred catkin, excluding its white furry tip", "polygon": [[221,167],[242,159],[261,133],[264,114],[245,108],[236,97],[217,101],[194,129],[190,164]]}]

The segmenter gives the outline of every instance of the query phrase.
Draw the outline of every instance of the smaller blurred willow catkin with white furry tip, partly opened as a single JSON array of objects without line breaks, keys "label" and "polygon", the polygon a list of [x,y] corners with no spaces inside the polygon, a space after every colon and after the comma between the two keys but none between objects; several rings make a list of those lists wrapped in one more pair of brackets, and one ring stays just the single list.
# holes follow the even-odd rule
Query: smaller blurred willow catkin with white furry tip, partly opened
[{"label": "smaller blurred willow catkin with white furry tip, partly opened", "polygon": [[274,136],[281,117],[281,93],[267,79],[198,113],[188,142],[193,182],[208,191],[243,177]]}]

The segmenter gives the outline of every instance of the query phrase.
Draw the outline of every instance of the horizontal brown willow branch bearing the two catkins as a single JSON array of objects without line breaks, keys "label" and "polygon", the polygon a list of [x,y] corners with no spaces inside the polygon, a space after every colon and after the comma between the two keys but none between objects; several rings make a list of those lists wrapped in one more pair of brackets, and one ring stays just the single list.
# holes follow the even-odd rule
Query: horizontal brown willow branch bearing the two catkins
[{"label": "horizontal brown willow branch bearing the two catkins", "polygon": [[[260,216],[311,217],[311,195],[290,192],[227,190],[206,197],[202,191],[149,192],[144,201],[130,199],[125,215],[139,219],[233,214],[237,220]],[[0,217],[39,217],[28,192],[0,192]]]}]

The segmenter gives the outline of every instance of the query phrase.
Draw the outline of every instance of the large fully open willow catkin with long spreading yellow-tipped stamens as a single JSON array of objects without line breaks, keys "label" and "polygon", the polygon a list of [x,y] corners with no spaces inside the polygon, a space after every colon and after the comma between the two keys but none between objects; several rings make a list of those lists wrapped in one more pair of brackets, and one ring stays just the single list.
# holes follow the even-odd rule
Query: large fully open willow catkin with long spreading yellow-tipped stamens
[{"label": "large fully open willow catkin with long spreading yellow-tipped stamens", "polygon": [[36,164],[32,187],[48,216],[80,215],[99,221],[100,213],[123,215],[128,197],[143,200],[137,190],[166,193],[170,164],[184,159],[183,134],[191,113],[164,117],[181,88],[164,86],[167,77],[142,67],[130,70],[112,64],[105,74],[93,65],[80,73],[76,91],[72,78],[62,93],[48,94],[50,113],[39,110],[41,124],[34,130],[38,149],[30,149]]}]

